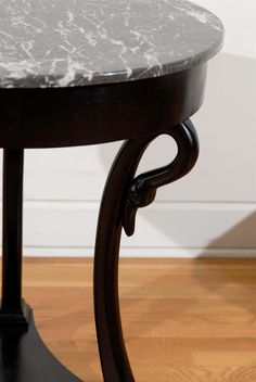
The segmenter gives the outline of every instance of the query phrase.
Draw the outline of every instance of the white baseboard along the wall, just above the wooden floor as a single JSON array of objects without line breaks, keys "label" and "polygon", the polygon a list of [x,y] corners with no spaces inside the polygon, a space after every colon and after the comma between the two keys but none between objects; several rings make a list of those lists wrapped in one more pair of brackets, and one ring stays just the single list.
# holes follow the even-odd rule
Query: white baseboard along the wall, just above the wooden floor
[{"label": "white baseboard along the wall, just above the wooden floor", "polygon": [[[24,203],[24,254],[92,256],[99,203]],[[256,203],[155,202],[140,209],[130,257],[256,257]]]}]

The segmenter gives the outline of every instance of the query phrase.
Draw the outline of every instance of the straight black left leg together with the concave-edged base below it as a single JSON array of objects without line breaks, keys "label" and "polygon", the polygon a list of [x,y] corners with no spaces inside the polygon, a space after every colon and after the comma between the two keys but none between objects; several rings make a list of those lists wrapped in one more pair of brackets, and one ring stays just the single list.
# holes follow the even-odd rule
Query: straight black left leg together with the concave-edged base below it
[{"label": "straight black left leg together with the concave-edged base below it", "polygon": [[23,150],[3,152],[0,382],[81,382],[50,353],[22,301]]}]

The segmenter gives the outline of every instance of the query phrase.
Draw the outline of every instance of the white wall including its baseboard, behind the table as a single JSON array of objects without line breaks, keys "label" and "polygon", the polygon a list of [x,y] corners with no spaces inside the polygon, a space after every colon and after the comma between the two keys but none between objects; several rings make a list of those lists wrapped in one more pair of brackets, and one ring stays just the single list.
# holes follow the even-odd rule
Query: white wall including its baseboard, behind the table
[{"label": "white wall including its baseboard, behind the table", "polygon": [[[256,255],[256,2],[196,3],[226,25],[226,46],[209,63],[205,103],[192,118],[200,161],[140,211],[136,235],[124,238],[124,255]],[[119,145],[26,152],[25,254],[92,254],[99,201]],[[140,168],[174,154],[174,142],[159,138]]]}]

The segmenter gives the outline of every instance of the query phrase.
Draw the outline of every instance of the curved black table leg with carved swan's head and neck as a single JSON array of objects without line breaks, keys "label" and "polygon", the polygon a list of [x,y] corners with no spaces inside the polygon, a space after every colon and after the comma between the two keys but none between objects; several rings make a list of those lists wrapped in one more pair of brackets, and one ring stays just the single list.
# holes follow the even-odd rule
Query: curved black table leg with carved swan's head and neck
[{"label": "curved black table leg with carved swan's head and neck", "polygon": [[131,235],[136,213],[153,202],[158,187],[172,182],[194,166],[197,136],[191,122],[164,131],[178,145],[168,165],[135,178],[148,145],[158,136],[126,141],[110,171],[100,208],[94,258],[94,309],[104,382],[133,382],[127,356],[118,300],[118,257],[121,228]]}]

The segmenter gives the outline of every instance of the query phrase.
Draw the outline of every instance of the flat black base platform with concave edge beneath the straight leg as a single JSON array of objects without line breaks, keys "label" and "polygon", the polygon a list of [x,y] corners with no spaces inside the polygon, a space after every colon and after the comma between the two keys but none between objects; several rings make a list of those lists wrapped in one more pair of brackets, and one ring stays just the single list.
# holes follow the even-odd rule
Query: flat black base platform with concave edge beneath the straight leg
[{"label": "flat black base platform with concave edge beneath the straight leg", "polygon": [[0,324],[0,382],[81,382],[49,352],[35,327]]}]

